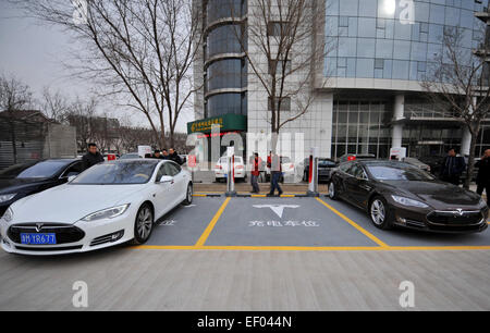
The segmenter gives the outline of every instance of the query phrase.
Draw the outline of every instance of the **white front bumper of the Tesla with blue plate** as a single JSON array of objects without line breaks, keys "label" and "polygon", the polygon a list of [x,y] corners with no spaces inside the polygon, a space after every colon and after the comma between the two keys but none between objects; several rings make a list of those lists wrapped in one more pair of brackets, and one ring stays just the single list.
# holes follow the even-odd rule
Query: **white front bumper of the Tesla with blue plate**
[{"label": "white front bumper of the Tesla with blue plate", "polygon": [[[35,229],[29,229],[33,223],[14,223],[8,224],[5,221],[0,220],[0,243],[4,251],[9,254],[28,255],[28,256],[58,256],[87,252],[115,246],[126,243],[134,238],[134,221],[136,213],[126,212],[122,217],[118,217],[111,220],[100,220],[96,222],[83,222],[78,221],[75,224],[57,223],[60,227],[54,230],[57,234],[57,242],[62,244],[57,245],[23,245],[20,244],[20,239],[15,237],[13,229],[26,231],[33,234],[46,234],[51,233],[50,226],[52,223],[46,223],[46,230],[41,229],[37,232]],[[13,229],[11,229],[13,227]],[[66,242],[66,235],[61,233],[61,229],[79,230],[83,233],[83,237],[76,242]],[[58,233],[60,237],[58,237]],[[13,239],[12,239],[13,238]],[[59,240],[59,239],[65,239]]]}]

